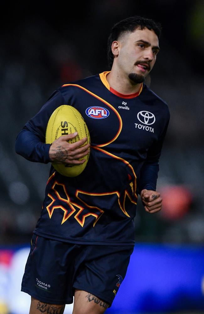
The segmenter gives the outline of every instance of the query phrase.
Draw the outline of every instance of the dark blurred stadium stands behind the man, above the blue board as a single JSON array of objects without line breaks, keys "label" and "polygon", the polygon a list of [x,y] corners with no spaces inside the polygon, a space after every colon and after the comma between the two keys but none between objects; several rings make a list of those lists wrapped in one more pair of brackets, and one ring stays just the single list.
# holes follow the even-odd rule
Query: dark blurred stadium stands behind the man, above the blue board
[{"label": "dark blurred stadium stands behind the man, above the blue board", "polygon": [[16,136],[56,88],[109,70],[110,29],[133,15],[162,24],[161,51],[147,84],[171,114],[157,185],[163,210],[150,215],[139,203],[135,239],[203,244],[204,2],[104,0],[2,6],[1,245],[30,242],[49,176],[50,165],[15,154]]}]

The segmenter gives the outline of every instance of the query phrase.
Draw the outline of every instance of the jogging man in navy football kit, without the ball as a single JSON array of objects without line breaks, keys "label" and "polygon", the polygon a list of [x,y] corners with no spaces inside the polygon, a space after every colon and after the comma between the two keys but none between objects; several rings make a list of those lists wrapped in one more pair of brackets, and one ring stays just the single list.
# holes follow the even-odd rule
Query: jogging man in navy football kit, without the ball
[{"label": "jogging man in navy football kit, without the ball", "polygon": [[[63,313],[73,295],[74,314],[103,313],[126,275],[138,193],[148,213],[161,209],[156,181],[169,110],[143,84],[159,35],[158,24],[138,16],[115,24],[108,40],[111,71],[57,89],[18,135],[16,152],[31,161],[77,165],[90,150],[77,177],[51,166],[22,281],[30,314]],[[45,144],[52,112],[66,104],[85,119],[91,147],[86,138],[67,143],[76,134]]]}]

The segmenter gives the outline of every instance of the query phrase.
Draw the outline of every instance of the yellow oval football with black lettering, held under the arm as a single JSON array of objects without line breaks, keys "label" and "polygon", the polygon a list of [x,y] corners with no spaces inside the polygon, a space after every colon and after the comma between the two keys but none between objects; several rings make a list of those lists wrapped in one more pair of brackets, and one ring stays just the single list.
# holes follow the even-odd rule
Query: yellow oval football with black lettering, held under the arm
[{"label": "yellow oval football with black lettering, held under the arm", "polygon": [[[62,105],[52,113],[46,128],[46,144],[51,144],[62,135],[78,132],[78,135],[70,139],[70,144],[87,137],[85,144],[90,143],[90,135],[87,125],[80,112],[69,105]],[[63,176],[78,176],[85,169],[89,160],[89,154],[81,158],[86,161],[81,165],[63,165],[52,162],[53,167]]]}]

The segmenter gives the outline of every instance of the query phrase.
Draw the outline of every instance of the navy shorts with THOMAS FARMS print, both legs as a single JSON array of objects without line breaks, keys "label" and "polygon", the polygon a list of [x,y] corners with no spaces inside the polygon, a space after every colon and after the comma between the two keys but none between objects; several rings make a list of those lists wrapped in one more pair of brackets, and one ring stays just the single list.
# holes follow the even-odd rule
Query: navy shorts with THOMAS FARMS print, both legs
[{"label": "navy shorts with THOMAS FARMS print, both legs", "polygon": [[34,234],[21,291],[41,302],[71,304],[76,288],[111,305],[133,248],[73,244]]}]

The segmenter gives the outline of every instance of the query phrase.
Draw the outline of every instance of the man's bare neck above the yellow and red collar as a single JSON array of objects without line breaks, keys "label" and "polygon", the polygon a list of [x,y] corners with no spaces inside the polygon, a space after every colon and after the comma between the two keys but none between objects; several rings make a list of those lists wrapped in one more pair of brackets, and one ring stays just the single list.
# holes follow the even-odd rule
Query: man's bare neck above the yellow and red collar
[{"label": "man's bare neck above the yellow and red collar", "polygon": [[124,95],[137,93],[141,88],[141,83],[131,84],[129,78],[122,77],[113,69],[106,75],[106,79],[110,87]]}]

